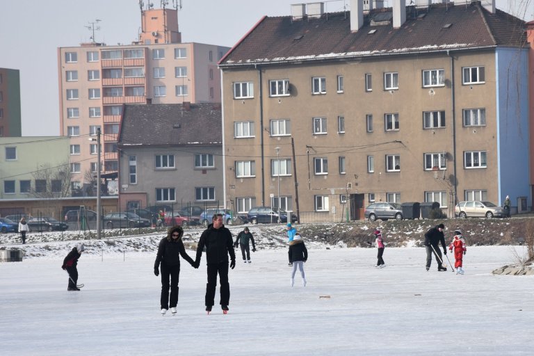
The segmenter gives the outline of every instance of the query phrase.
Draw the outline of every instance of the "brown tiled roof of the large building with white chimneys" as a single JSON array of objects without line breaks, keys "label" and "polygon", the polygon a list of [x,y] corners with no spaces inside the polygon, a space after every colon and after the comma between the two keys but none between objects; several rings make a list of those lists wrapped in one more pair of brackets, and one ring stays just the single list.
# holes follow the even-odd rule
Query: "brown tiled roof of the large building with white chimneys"
[{"label": "brown tiled roof of the large building with white chimneys", "polygon": [[[387,13],[391,13],[391,8],[371,11],[365,15],[364,26],[355,33],[350,31],[348,12],[328,13],[318,19],[264,17],[228,52],[220,66],[526,44],[523,21],[501,10],[489,13],[480,3],[434,4],[419,10],[407,7],[407,20],[400,29],[393,29],[391,22],[371,26],[371,20]],[[419,17],[423,13],[426,15]],[[445,28],[446,24],[451,26]],[[375,33],[370,34],[373,29]]]}]

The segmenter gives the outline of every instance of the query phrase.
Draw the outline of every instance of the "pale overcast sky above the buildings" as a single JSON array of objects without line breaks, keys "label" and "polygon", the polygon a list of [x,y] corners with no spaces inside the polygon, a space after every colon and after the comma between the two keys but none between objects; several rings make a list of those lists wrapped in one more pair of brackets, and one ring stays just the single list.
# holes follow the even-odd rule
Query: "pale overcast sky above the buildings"
[{"label": "pale overcast sky above the buildings", "polygon": [[[144,2],[146,7],[148,0]],[[172,6],[172,0],[168,2]],[[302,2],[181,0],[182,42],[232,47],[262,16],[290,15],[290,4]],[[332,13],[343,10],[349,0],[325,2]],[[161,1],[152,3],[161,7]],[[23,136],[59,134],[58,47],[90,42],[92,32],[86,26],[95,19],[102,20],[95,24],[100,28],[95,40],[108,45],[129,44],[140,31],[136,0],[0,0],[0,6],[0,67],[20,70]],[[496,6],[526,21],[534,19],[532,0],[496,0]]]}]

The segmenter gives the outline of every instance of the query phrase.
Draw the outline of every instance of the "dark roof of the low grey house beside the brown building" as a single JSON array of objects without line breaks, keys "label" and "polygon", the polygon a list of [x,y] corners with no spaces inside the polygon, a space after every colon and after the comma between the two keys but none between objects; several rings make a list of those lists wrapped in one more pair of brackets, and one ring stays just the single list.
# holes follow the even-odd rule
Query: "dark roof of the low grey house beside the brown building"
[{"label": "dark roof of the low grey house beside the brown building", "polygon": [[220,104],[125,105],[119,145],[223,145]]}]

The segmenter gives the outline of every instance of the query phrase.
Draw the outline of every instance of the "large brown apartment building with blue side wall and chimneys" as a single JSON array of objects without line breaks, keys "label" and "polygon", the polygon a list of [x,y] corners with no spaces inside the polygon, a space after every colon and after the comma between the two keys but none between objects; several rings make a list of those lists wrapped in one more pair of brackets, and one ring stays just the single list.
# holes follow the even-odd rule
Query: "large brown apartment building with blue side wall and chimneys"
[{"label": "large brown apartment building with blue side wall and chimneys", "polygon": [[531,207],[524,22],[494,1],[412,3],[296,4],[220,60],[227,204],[301,221],[381,201]]}]

